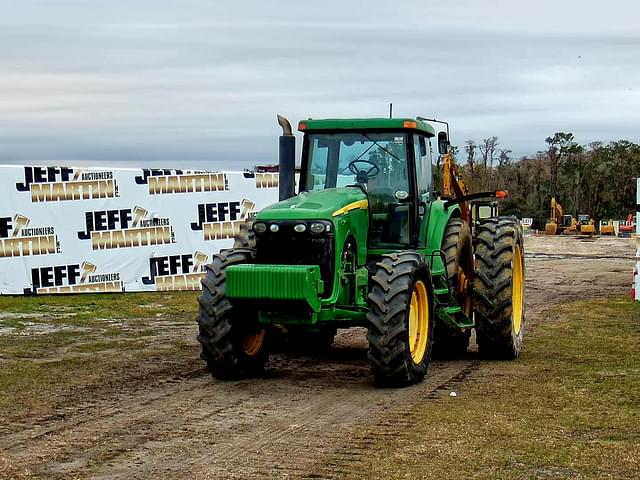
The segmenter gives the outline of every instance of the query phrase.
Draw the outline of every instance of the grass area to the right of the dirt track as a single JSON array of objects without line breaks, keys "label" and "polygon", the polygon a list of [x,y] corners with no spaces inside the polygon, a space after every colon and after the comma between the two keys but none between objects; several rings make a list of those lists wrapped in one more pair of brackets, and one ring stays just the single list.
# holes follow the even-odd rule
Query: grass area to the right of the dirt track
[{"label": "grass area to the right of the dirt track", "polygon": [[353,431],[368,450],[361,478],[640,478],[640,304],[581,302],[547,318],[518,362],[483,361],[436,398]]}]

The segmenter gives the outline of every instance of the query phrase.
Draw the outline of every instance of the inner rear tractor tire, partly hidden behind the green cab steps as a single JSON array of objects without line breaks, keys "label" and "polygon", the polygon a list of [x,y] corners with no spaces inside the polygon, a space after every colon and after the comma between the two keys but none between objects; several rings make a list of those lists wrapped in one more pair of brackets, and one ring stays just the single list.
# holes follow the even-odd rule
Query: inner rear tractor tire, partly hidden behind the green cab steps
[{"label": "inner rear tractor tire, partly hidden behind the green cab steps", "polygon": [[[442,239],[447,267],[447,283],[458,304],[468,317],[473,313],[473,242],[469,224],[452,218]],[[464,277],[460,277],[460,272]],[[460,284],[458,282],[460,280]],[[460,358],[467,353],[470,330],[453,329],[438,323],[434,332],[433,355],[438,358]]]}]

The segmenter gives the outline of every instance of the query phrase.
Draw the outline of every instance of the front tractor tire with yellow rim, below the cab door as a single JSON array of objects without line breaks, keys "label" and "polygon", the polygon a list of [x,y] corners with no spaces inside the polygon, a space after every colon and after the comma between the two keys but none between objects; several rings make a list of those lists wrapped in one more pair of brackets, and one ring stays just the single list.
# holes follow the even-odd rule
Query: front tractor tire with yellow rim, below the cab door
[{"label": "front tractor tire with yellow rim, below the cab door", "polygon": [[[424,293],[414,293],[418,291]],[[417,351],[412,353],[409,330],[414,295],[426,296],[416,303],[427,315],[427,331],[416,336],[414,342],[419,345],[414,343]],[[431,275],[422,255],[407,251],[382,256],[371,278],[367,322],[368,356],[375,384],[399,387],[422,381],[431,359],[435,324]]]}]

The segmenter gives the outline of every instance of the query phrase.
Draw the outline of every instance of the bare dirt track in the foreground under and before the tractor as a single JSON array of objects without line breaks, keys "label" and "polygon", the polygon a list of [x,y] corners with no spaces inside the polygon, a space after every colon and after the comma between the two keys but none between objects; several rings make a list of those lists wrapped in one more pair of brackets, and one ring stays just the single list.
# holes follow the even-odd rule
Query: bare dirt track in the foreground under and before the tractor
[{"label": "bare dirt track in the foreground under and before the tractor", "polygon": [[316,359],[280,355],[272,378],[227,383],[202,374],[157,385],[7,435],[0,445],[53,477],[180,478],[189,472],[204,478],[211,469],[222,478],[273,477],[305,466],[309,454],[327,448],[345,426],[390,404],[423,400],[468,363],[434,362],[419,386],[376,390],[362,346],[337,348],[322,360],[317,368]]}]

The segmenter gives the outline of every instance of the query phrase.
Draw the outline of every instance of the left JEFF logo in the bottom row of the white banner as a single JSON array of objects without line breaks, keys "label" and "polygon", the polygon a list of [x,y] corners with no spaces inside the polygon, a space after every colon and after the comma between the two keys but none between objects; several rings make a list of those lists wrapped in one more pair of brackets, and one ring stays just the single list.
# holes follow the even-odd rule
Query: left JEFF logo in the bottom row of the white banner
[{"label": "left JEFF logo in the bottom row of the white banner", "polygon": [[119,273],[96,273],[98,267],[91,262],[70,265],[51,265],[31,269],[31,288],[34,293],[92,293],[122,292]]}]

